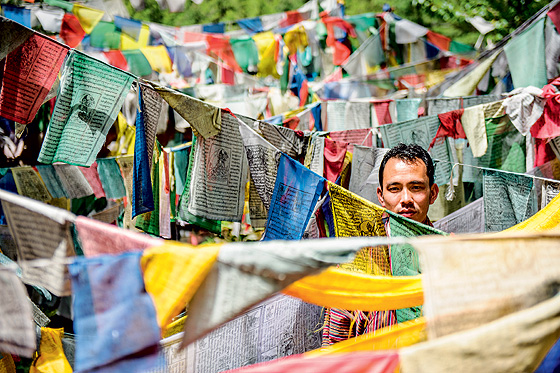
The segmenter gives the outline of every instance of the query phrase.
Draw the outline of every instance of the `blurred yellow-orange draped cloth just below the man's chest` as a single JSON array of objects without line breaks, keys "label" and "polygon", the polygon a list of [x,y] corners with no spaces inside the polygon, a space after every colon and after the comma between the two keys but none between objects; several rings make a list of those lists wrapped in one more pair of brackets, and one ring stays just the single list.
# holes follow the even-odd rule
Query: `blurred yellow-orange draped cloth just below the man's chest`
[{"label": "blurred yellow-orange draped cloth just below the man's chest", "polygon": [[384,311],[424,303],[421,276],[374,276],[330,267],[288,286],[284,294],[345,310]]}]

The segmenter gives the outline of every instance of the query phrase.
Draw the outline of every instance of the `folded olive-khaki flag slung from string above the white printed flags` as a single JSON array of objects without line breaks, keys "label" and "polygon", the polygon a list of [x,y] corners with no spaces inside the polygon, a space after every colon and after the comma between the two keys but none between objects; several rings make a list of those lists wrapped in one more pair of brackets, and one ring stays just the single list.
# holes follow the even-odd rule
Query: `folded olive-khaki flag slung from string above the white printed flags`
[{"label": "folded olive-khaki flag slung from string above the white printed flags", "polygon": [[220,133],[222,110],[181,92],[152,84],[155,90],[192,127],[194,134],[204,139]]}]

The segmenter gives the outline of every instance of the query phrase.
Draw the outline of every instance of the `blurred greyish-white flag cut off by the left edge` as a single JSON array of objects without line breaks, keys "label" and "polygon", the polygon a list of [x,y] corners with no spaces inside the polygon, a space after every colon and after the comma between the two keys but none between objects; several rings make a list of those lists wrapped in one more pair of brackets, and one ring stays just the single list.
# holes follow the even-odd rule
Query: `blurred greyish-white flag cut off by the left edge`
[{"label": "blurred greyish-white flag cut off by the left edge", "polygon": [[0,328],[0,350],[7,354],[33,356],[36,338],[31,301],[18,276],[12,270],[2,267],[0,297],[3,318]]}]

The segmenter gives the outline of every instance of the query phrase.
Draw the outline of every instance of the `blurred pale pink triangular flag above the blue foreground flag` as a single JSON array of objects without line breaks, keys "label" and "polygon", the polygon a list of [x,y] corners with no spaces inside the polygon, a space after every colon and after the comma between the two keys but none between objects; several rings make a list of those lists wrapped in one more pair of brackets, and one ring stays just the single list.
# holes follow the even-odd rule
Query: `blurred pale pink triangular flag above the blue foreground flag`
[{"label": "blurred pale pink triangular flag above the blue foreground flag", "polygon": [[142,251],[163,244],[163,240],[159,238],[120,229],[83,216],[76,218],[75,225],[86,257]]}]

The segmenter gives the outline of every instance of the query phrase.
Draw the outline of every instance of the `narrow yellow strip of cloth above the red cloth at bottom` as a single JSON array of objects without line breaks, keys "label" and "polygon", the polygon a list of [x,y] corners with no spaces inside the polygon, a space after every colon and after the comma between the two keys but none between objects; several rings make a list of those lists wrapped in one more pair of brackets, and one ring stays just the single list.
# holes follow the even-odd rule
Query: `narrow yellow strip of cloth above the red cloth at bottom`
[{"label": "narrow yellow strip of cloth above the red cloth at bottom", "polygon": [[426,320],[423,317],[387,326],[375,333],[367,333],[329,347],[306,352],[308,357],[339,354],[345,352],[393,350],[426,340]]}]

